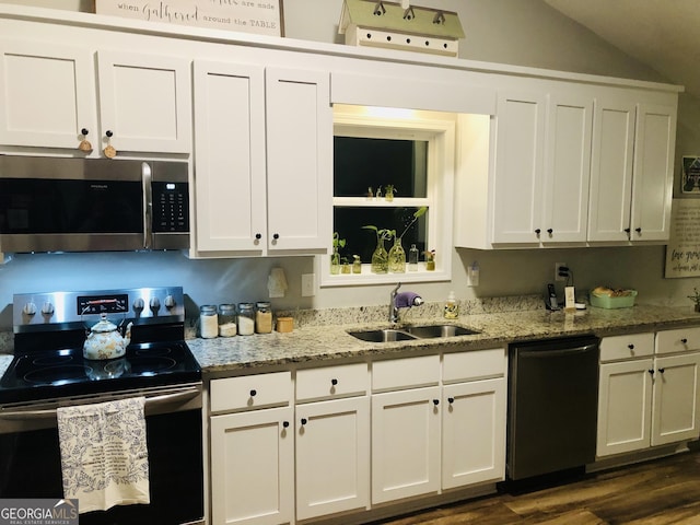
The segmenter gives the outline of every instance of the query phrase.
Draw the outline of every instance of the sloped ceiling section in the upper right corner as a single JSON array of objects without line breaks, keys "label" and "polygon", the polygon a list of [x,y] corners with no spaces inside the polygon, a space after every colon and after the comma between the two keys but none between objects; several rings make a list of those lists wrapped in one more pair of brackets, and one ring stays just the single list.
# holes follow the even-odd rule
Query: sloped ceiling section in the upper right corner
[{"label": "sloped ceiling section in the upper right corner", "polygon": [[698,0],[544,0],[700,98]]}]

